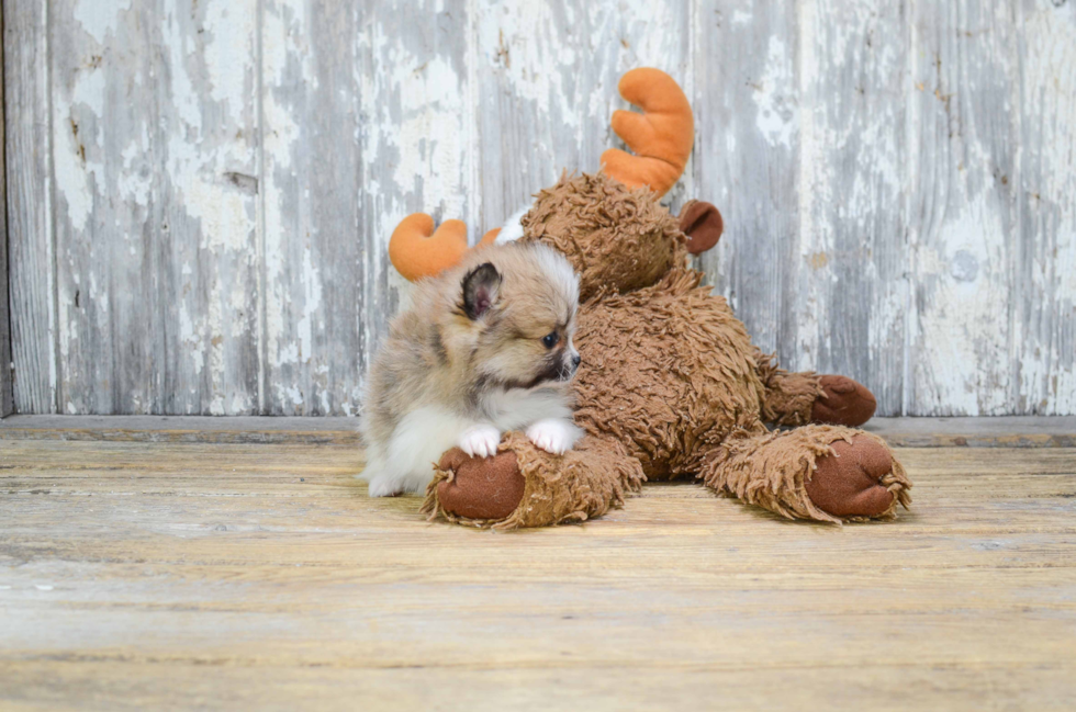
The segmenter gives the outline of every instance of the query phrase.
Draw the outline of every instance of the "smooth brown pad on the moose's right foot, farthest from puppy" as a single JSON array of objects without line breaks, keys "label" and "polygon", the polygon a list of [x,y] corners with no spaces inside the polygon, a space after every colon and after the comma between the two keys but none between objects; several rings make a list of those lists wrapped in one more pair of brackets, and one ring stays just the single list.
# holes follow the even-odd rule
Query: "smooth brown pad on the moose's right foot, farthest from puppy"
[{"label": "smooth brown pad on the moose's right foot, farthest from puppy", "polygon": [[816,507],[834,517],[878,517],[895,506],[899,488],[889,490],[893,456],[885,445],[854,436],[830,447],[836,454],[819,457],[804,483]]}]

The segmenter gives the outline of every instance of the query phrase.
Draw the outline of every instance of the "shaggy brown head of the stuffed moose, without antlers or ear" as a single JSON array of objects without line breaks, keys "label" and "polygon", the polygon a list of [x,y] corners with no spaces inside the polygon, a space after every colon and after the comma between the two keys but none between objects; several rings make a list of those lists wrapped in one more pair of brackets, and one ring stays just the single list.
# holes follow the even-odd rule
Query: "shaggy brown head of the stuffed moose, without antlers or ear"
[{"label": "shaggy brown head of the stuffed moose, without antlers or ear", "polygon": [[603,173],[562,176],[538,193],[522,221],[525,239],[556,247],[580,274],[580,298],[628,292],[686,264],[686,237],[646,187],[628,190]]}]

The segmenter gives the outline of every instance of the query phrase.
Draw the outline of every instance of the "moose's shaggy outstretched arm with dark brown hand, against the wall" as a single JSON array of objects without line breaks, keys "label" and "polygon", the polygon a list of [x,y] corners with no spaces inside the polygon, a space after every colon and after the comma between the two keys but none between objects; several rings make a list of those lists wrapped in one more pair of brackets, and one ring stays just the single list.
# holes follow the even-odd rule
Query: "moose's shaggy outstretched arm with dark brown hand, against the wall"
[{"label": "moose's shaggy outstretched arm with dark brown hand, against the wall", "polygon": [[874,415],[874,394],[847,376],[789,373],[759,351],[759,376],[765,388],[762,419],[775,426],[821,422],[854,428]]}]

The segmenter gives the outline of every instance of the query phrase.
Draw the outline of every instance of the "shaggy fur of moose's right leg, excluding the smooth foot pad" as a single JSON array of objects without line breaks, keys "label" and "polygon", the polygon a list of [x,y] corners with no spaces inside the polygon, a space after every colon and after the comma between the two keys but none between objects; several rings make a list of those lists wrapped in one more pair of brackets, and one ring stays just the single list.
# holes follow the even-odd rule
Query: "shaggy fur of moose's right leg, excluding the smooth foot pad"
[{"label": "shaggy fur of moose's right leg, excluding the smooth foot pad", "polygon": [[[893,498],[888,507],[876,515],[836,515],[821,509],[809,496],[807,482],[815,475],[818,462],[837,456],[832,443],[842,440],[864,439],[884,449],[890,461],[889,473],[882,484]],[[845,451],[845,456],[851,451]],[[872,460],[875,454],[871,453]],[[849,461],[851,463],[851,457]],[[845,468],[849,474],[854,466]],[[872,468],[875,468],[872,465]],[[752,505],[788,519],[812,519],[841,523],[861,519],[892,519],[897,504],[906,509],[911,504],[908,489],[911,483],[904,467],[893,456],[889,448],[877,436],[837,426],[804,426],[784,432],[755,434],[739,431],[732,434],[716,452],[713,460],[699,473],[708,487],[732,495]],[[867,483],[868,485],[868,483]]]}]

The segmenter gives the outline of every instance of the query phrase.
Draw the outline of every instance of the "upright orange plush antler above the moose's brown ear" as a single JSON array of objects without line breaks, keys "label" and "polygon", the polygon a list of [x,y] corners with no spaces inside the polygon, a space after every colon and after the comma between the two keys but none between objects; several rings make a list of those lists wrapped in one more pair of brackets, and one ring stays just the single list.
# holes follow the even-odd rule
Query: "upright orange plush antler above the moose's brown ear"
[{"label": "upright orange plush antler above the moose's brown ear", "polygon": [[687,97],[672,77],[650,67],[624,75],[618,88],[621,97],[642,108],[641,114],[613,113],[613,131],[637,155],[610,148],[602,154],[602,167],[628,188],[649,185],[664,195],[680,180],[695,143]]}]

